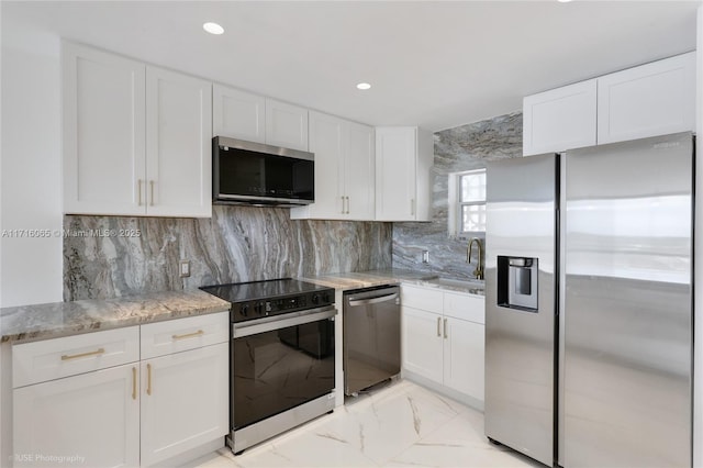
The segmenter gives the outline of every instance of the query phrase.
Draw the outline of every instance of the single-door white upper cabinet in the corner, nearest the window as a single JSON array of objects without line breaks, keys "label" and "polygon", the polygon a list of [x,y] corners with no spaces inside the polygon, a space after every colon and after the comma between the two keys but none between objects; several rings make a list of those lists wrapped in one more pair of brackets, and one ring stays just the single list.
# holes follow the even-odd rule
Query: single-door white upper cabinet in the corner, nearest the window
[{"label": "single-door white upper cabinet in the corner, nearest the window", "polygon": [[428,221],[432,134],[415,126],[376,129],[376,220]]}]

